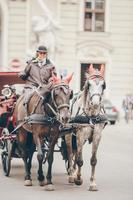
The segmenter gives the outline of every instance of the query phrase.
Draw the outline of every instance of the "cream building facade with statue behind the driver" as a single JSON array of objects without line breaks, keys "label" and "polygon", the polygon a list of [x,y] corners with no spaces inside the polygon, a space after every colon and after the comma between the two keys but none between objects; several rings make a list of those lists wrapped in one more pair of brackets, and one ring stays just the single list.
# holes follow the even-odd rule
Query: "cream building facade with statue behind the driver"
[{"label": "cream building facade with statue behind the driver", "polygon": [[104,64],[105,95],[121,108],[133,93],[132,11],[132,0],[0,0],[0,70],[44,44],[59,73],[74,72],[75,92],[90,63]]}]

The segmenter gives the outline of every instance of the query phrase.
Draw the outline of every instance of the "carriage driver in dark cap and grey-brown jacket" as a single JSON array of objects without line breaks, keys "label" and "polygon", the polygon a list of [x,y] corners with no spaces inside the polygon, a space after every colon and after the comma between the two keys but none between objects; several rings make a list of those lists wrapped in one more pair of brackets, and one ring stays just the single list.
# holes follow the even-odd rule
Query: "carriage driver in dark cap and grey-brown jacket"
[{"label": "carriage driver in dark cap and grey-brown jacket", "polygon": [[24,87],[24,105],[27,105],[35,88],[48,84],[52,73],[56,75],[55,66],[48,59],[48,52],[45,46],[39,46],[36,50],[36,57],[27,62],[26,68],[19,73],[19,77],[26,81]]}]

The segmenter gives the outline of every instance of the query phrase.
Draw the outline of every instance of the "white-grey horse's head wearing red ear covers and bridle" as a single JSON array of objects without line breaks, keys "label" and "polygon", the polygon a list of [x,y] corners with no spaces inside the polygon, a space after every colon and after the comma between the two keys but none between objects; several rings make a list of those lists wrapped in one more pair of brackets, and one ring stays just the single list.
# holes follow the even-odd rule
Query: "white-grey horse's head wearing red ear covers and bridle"
[{"label": "white-grey horse's head wearing red ear covers and bridle", "polygon": [[101,65],[101,70],[98,71],[90,66],[89,76],[85,82],[85,105],[94,110],[98,109],[101,105],[102,96],[104,89],[106,87],[105,80],[103,77],[103,65]]}]

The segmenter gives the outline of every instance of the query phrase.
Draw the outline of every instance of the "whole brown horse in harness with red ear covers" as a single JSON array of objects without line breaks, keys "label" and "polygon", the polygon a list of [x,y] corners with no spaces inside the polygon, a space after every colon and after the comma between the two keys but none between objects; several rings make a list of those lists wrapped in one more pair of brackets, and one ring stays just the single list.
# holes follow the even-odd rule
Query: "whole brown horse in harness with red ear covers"
[{"label": "whole brown horse in harness with red ear covers", "polygon": [[[16,104],[14,116],[17,124],[20,124],[18,130],[18,145],[21,157],[25,166],[25,185],[32,185],[31,180],[31,161],[34,153],[34,143],[37,148],[37,159],[39,163],[38,181],[44,185],[44,174],[42,163],[44,160],[45,150],[43,150],[44,141],[49,144],[47,154],[48,171],[46,189],[53,190],[52,184],[52,163],[55,144],[59,137],[59,127],[68,122],[70,118],[69,102],[72,98],[72,90],[69,88],[69,82],[72,75],[61,80],[54,75],[51,83],[47,86],[36,89],[28,104],[28,117],[26,117],[22,95]],[[47,95],[46,95],[47,93]],[[28,119],[28,121],[26,121]],[[25,121],[24,121],[25,120]],[[30,121],[31,120],[31,121]],[[30,122],[29,122],[30,121]],[[22,125],[21,125],[22,124]],[[32,134],[33,141],[28,143],[28,136]],[[27,143],[28,148],[27,148]]]}]

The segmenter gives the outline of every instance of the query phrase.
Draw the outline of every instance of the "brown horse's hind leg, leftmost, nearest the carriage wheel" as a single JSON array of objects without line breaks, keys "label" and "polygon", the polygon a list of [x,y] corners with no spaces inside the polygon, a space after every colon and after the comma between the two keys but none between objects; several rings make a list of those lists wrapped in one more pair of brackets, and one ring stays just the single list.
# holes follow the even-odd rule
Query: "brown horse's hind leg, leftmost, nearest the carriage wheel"
[{"label": "brown horse's hind leg, leftmost, nearest the carriage wheel", "polygon": [[27,134],[19,131],[18,134],[18,146],[21,151],[21,157],[24,161],[24,167],[25,167],[25,186],[31,186],[32,185],[32,180],[31,180],[31,172],[30,168],[28,166],[28,155],[27,155],[27,146],[26,146],[26,141],[27,141]]}]

